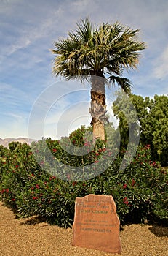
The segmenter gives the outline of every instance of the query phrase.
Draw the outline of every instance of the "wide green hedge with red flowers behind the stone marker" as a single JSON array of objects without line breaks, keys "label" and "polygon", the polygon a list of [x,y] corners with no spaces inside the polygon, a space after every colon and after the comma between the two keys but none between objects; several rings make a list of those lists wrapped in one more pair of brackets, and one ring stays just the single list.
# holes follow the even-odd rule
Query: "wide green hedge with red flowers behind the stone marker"
[{"label": "wide green hedge with red flowers behind the stone marker", "polygon": [[[86,131],[81,127],[69,138],[60,141],[47,138],[33,143],[32,147],[19,143],[11,151],[1,147],[1,200],[17,217],[36,214],[60,227],[71,227],[76,197],[88,194],[112,195],[121,224],[144,222],[153,217],[168,219],[168,173],[158,162],[151,162],[150,146],[139,146],[132,162],[122,170],[124,149],[121,148],[113,161],[115,152],[101,140],[95,145],[92,140],[85,140]],[[76,154],[79,147],[84,148],[84,154]],[[89,167],[101,163],[102,159],[105,160],[97,166],[103,172]],[[81,166],[84,173],[71,175],[67,165]],[[88,174],[85,172],[91,178],[84,179]]]}]

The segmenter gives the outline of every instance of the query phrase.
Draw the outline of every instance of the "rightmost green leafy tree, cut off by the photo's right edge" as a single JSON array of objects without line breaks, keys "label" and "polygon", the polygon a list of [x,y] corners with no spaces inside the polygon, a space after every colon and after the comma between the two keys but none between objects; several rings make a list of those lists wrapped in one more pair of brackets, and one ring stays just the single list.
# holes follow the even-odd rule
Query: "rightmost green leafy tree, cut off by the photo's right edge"
[{"label": "rightmost green leafy tree, cut off by the photo's right edge", "polygon": [[[152,146],[153,157],[168,165],[168,97],[155,95],[143,120],[142,142]],[[150,140],[149,140],[150,138]]]}]

